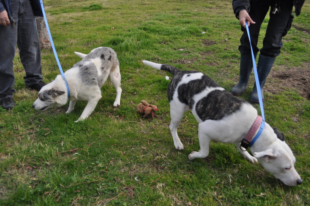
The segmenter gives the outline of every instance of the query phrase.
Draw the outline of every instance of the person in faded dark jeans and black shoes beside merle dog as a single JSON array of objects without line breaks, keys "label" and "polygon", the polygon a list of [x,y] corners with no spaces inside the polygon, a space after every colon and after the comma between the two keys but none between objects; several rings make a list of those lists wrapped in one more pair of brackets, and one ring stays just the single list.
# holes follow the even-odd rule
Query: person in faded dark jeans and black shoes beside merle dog
[{"label": "person in faded dark jeans and black shoes beside merle dog", "polygon": [[45,85],[35,16],[43,16],[39,0],[0,0],[0,102],[6,110],[15,105],[16,44],[26,73],[25,85],[37,91]]}]

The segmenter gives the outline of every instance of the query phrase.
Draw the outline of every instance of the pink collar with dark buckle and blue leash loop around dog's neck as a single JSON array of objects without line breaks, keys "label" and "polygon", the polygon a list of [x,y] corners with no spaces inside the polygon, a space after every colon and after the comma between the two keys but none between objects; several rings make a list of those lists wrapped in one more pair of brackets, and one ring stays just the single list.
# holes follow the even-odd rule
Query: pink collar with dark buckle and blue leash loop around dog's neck
[{"label": "pink collar with dark buckle and blue leash loop around dog's neck", "polygon": [[[254,142],[259,138],[265,126],[265,122],[262,121],[262,119],[263,118],[261,116],[256,117],[254,123],[252,124],[252,127],[250,128],[249,132],[246,134],[246,137],[243,138],[243,140],[241,141],[240,149],[242,151],[246,151],[246,149],[248,147],[251,147],[254,144]],[[253,138],[255,132],[258,130],[259,127],[260,127],[259,131],[257,132],[256,136]],[[245,150],[242,148],[244,148]]]}]

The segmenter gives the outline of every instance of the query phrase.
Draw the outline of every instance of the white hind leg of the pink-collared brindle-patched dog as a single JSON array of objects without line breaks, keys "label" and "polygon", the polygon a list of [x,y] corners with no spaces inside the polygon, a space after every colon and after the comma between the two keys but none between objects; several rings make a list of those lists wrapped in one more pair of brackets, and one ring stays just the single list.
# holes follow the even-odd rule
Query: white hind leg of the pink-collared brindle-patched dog
[{"label": "white hind leg of the pink-collared brindle-patched dog", "polygon": [[179,124],[183,118],[184,112],[188,108],[187,105],[182,104],[180,102],[171,101],[170,102],[170,116],[171,116],[171,123],[170,123],[170,131],[173,138],[173,142],[175,145],[175,149],[177,150],[183,150],[184,146],[182,142],[180,141],[180,138],[178,136],[177,129],[179,127]]}]

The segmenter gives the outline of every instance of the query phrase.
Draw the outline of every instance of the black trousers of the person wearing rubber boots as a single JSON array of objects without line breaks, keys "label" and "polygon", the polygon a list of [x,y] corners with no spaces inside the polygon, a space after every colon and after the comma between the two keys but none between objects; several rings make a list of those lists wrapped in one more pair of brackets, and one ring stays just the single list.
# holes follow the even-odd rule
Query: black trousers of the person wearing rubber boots
[{"label": "black trousers of the person wearing rubber boots", "polygon": [[[255,0],[249,15],[255,24],[249,26],[251,44],[253,52],[260,52],[263,56],[277,57],[280,55],[280,49],[283,47],[282,37],[284,37],[291,27],[294,16],[292,16],[293,0],[281,0],[280,13],[272,14],[272,9],[275,5],[274,0]],[[265,19],[265,16],[271,7],[269,13],[269,21],[266,29],[266,34],[263,39],[263,47],[257,47],[260,27]],[[243,35],[240,38],[241,45],[239,51],[242,54],[251,52],[250,43],[246,29],[242,27]]]}]

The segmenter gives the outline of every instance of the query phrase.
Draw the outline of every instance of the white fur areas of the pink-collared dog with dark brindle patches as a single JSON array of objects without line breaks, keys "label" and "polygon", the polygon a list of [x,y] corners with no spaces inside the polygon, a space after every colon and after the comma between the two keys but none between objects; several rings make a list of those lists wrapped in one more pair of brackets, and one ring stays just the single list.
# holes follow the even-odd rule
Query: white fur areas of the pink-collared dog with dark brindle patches
[{"label": "white fur areas of the pink-collared dog with dark brindle patches", "polygon": [[[143,60],[143,63],[155,69],[166,70],[162,68],[161,64],[146,60]],[[181,119],[183,118],[184,112],[191,110],[189,105],[186,105],[179,100],[179,92],[177,92],[179,91],[178,88],[181,85],[184,87],[184,85],[186,85],[191,80],[201,79],[203,75],[204,74],[198,72],[191,73],[191,75],[184,74],[182,78],[178,76],[178,80],[173,82],[175,77],[174,74],[174,77],[168,86],[167,90],[173,92],[172,100],[169,102],[171,116],[171,123],[169,128],[172,134],[175,148],[177,150],[184,149],[184,146],[179,139],[177,128],[181,122]],[[173,86],[171,86],[172,84]],[[170,87],[174,87],[174,90],[172,91]],[[188,91],[191,91],[191,88],[188,88]],[[217,86],[205,87],[205,89],[203,89],[200,93],[191,96],[192,100],[194,101],[192,108],[196,108],[197,102],[203,97],[206,97],[212,91],[224,91],[224,88]],[[227,95],[231,94],[227,92]],[[235,97],[232,97],[232,101],[234,98]],[[254,156],[251,156],[247,151],[240,149],[242,139],[246,136],[247,132],[252,126],[252,123],[257,117],[257,110],[249,103],[244,101],[241,103],[241,108],[239,110],[225,116],[220,120],[207,119],[202,121],[195,109],[192,109],[191,111],[199,123],[198,139],[200,150],[198,152],[191,152],[191,154],[188,155],[190,160],[195,158],[206,158],[209,155],[209,144],[211,140],[223,143],[234,143],[241,155],[243,155],[247,160],[249,160],[251,163],[257,162],[257,160],[259,160],[259,162],[268,172],[272,173],[284,184],[288,186],[296,186],[302,182],[299,174],[294,168],[296,159],[292,151],[284,141],[281,141],[279,138],[277,138],[277,134],[268,123],[265,123],[265,127],[259,139],[253,146],[250,147],[250,150]]]}]

